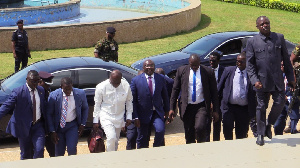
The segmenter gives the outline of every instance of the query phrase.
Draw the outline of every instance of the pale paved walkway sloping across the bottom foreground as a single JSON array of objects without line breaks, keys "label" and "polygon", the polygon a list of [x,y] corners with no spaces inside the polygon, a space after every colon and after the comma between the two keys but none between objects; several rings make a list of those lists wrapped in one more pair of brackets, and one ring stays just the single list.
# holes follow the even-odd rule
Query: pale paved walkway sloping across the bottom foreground
[{"label": "pale paved walkway sloping across the bottom foreground", "polygon": [[[298,167],[300,134],[0,163],[1,168]],[[42,166],[41,166],[42,165]]]}]

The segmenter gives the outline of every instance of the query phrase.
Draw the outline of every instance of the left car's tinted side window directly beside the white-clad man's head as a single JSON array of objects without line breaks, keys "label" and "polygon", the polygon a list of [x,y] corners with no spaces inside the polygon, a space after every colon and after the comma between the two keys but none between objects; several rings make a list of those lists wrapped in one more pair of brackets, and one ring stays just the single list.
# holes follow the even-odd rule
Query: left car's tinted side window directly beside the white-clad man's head
[{"label": "left car's tinted side window directly beside the white-clad man's head", "polygon": [[79,88],[95,88],[100,82],[109,78],[109,72],[100,69],[81,69],[78,70]]}]

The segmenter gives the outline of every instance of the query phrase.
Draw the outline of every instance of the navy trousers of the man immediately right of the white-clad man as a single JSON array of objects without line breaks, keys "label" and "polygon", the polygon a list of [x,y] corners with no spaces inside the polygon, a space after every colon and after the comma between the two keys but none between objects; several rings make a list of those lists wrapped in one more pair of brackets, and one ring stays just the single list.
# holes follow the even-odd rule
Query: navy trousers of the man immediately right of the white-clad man
[{"label": "navy trousers of the man immediately right of the white-clad man", "polygon": [[163,145],[165,136],[165,123],[154,110],[150,123],[141,123],[140,128],[137,128],[137,148],[149,148],[149,131],[153,125],[155,130],[155,138],[153,147],[159,147]]}]

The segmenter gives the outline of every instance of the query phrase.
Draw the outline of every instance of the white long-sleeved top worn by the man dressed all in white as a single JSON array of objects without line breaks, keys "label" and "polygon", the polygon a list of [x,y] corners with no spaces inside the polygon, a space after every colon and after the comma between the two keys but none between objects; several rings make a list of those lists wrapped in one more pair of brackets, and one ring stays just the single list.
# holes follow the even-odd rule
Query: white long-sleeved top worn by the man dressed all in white
[{"label": "white long-sleeved top worn by the man dressed all in white", "polygon": [[125,126],[124,114],[126,107],[126,119],[132,120],[132,93],[129,83],[122,79],[120,85],[115,88],[107,79],[96,86],[94,106],[94,123],[100,123],[103,127],[113,124],[116,128]]}]

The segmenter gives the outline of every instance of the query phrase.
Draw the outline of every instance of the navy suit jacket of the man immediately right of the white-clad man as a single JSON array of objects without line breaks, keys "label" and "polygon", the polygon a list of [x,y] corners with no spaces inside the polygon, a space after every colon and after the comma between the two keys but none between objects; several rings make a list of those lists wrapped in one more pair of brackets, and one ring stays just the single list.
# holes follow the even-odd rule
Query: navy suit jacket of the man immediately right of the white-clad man
[{"label": "navy suit jacket of the man immediately right of the white-clad man", "polygon": [[165,112],[170,109],[168,92],[164,77],[154,73],[155,90],[153,96],[150,94],[145,73],[134,77],[131,81],[130,88],[133,96],[133,118],[138,118],[141,123],[150,123],[153,106],[162,120]]}]

